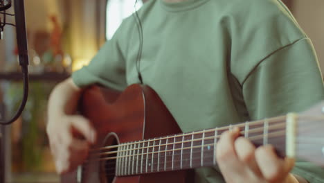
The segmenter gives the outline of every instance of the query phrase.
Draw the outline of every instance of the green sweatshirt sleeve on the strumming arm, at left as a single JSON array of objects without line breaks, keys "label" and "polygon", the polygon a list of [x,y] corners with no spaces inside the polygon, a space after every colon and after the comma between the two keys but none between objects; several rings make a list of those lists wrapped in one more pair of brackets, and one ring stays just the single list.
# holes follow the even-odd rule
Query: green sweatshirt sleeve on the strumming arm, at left
[{"label": "green sweatshirt sleeve on the strumming arm, at left", "polygon": [[[78,87],[100,84],[112,89],[123,90],[127,86],[125,60],[123,57],[120,39],[123,24],[118,28],[114,37],[107,41],[89,65],[72,74],[73,81]],[[85,46],[85,49],[86,46]]]}]

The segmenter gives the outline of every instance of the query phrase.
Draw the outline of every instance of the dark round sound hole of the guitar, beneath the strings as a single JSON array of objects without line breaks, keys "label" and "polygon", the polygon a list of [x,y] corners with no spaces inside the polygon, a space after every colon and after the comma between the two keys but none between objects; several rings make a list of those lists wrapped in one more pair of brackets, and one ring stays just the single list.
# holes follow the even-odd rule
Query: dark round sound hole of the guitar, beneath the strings
[{"label": "dark round sound hole of the guitar, beneath the strings", "polygon": [[[106,146],[116,146],[118,145],[118,141],[115,137],[115,135],[109,135],[106,140]],[[102,172],[104,172],[104,175],[102,177],[105,177],[105,181],[107,183],[111,183],[114,181],[115,172],[116,172],[116,157],[117,157],[117,148],[109,148],[107,150],[104,150],[105,153],[109,153],[107,155],[102,155],[101,158],[105,158],[104,162],[102,162]],[[110,154],[111,153],[111,154]],[[109,159],[108,159],[109,158]]]}]

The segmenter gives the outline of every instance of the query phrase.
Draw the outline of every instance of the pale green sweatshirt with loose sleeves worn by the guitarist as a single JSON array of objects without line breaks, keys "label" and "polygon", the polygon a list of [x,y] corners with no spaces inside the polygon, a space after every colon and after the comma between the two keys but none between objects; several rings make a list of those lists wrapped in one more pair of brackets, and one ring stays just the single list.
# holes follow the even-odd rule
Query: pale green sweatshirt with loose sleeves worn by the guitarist
[{"label": "pale green sweatshirt with loose sleeves worn by the guitarist", "polygon": [[[183,132],[302,112],[324,99],[312,43],[277,0],[150,0],[140,71]],[[73,73],[80,87],[123,90],[138,83],[139,36],[123,21],[89,66]],[[324,171],[298,162],[294,173],[324,182]],[[218,168],[198,168],[196,182],[224,182]]]}]

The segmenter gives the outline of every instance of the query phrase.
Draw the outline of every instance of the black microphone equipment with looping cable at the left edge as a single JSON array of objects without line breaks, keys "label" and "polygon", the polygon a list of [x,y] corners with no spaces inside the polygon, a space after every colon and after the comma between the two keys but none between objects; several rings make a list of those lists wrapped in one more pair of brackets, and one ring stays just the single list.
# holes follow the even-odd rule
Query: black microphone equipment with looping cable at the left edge
[{"label": "black microphone equipment with looping cable at the left edge", "polygon": [[[6,13],[6,10],[10,7],[11,7],[11,0],[0,0],[0,15],[3,15],[2,23],[0,19],[0,32],[2,32],[3,35],[3,28],[6,25],[16,27],[19,64],[21,66],[21,71],[23,73],[23,80],[24,80],[24,96],[21,101],[21,105],[19,106],[19,109],[17,110],[15,116],[13,116],[12,119],[10,119],[9,121],[3,121],[2,119],[0,119],[0,125],[9,125],[10,123],[16,121],[21,115],[22,111],[24,110],[28,98],[28,46],[27,46],[27,35],[26,35],[24,0],[15,0],[14,3],[15,15]],[[16,24],[6,23],[6,15],[15,16]]]}]

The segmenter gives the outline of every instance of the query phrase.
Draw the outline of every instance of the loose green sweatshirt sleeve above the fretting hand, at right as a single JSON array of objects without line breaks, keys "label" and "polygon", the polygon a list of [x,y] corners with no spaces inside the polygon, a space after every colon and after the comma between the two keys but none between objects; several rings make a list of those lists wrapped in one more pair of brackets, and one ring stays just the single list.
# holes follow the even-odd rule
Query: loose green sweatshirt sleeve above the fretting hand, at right
[{"label": "loose green sweatshirt sleeve above the fretting hand, at right", "polygon": [[[323,101],[323,78],[310,40],[297,40],[264,58],[242,89],[252,120],[303,112]],[[297,161],[292,173],[309,182],[324,182],[324,169],[310,162]]]}]

